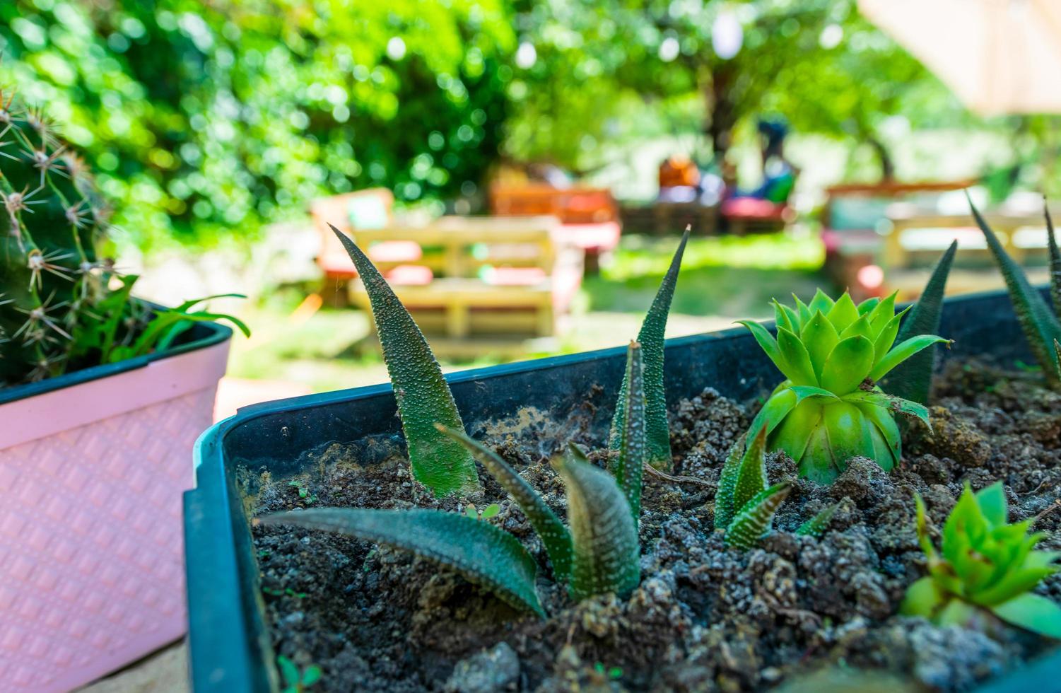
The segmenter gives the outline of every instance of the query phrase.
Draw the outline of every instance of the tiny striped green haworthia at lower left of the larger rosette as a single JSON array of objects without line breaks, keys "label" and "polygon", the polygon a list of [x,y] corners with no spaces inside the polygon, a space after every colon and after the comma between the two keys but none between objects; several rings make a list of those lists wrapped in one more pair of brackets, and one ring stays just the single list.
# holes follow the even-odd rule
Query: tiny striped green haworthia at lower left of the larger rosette
[{"label": "tiny striped green haworthia at lower left of the larger rosette", "polygon": [[715,493],[715,529],[737,549],[759,545],[770,533],[773,515],[788,496],[790,484],[766,485],[766,426],[744,449],[736,443],[723,465]]}]

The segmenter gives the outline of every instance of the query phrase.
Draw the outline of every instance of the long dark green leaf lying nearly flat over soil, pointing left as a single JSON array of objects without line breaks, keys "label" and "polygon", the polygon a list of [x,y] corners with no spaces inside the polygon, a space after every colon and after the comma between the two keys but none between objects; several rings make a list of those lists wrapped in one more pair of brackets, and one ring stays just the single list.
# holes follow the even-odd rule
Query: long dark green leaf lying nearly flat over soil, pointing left
[{"label": "long dark green leaf lying nearly flat over soil, pointing left", "polygon": [[348,507],[279,513],[259,521],[335,532],[410,551],[455,570],[518,609],[545,616],[535,592],[534,558],[516,537],[489,522],[443,510]]}]

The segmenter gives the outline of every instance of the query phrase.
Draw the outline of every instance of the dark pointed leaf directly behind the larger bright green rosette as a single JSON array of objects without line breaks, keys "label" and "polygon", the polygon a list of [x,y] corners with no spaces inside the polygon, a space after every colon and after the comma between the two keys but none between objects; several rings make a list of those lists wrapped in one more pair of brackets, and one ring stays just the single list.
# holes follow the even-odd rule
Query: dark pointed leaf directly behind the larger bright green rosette
[{"label": "dark pointed leaf directly behind the larger bright green rosette", "polygon": [[[946,278],[954,264],[954,255],[958,250],[958,242],[954,241],[932,271],[932,276],[921,292],[921,297],[903,320],[895,340],[905,342],[918,334],[936,334],[939,332],[939,318],[943,312],[943,296],[946,289]],[[897,397],[908,399],[920,404],[928,403],[928,392],[932,387],[932,374],[936,365],[936,349],[924,349],[909,357],[884,377],[881,387]]]}]

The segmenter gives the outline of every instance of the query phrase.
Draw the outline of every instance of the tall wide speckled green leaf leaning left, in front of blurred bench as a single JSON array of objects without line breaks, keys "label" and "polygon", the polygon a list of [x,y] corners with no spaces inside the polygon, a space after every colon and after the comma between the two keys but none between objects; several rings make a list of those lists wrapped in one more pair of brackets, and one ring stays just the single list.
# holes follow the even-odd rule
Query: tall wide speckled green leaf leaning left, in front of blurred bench
[{"label": "tall wide speckled green leaf leaning left, in front of blurred bench", "polygon": [[441,423],[463,431],[464,423],[428,341],[376,265],[345,233],[331,229],[353,260],[371,302],[413,474],[438,496],[479,488],[471,453],[435,428]]}]

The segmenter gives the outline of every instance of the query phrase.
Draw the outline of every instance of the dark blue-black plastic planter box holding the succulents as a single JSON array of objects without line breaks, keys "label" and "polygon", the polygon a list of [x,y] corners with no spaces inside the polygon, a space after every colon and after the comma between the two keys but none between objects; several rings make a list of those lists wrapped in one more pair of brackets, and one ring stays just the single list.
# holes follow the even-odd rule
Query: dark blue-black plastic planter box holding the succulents
[{"label": "dark blue-black plastic planter box holding the succulents", "polygon": [[[944,358],[991,354],[1001,362],[1030,359],[1009,298],[1002,292],[949,299],[940,333],[955,340]],[[470,428],[510,416],[522,406],[563,413],[594,386],[613,402],[625,348],[591,351],[467,370],[448,380]],[[737,400],[768,392],[779,376],[747,330],[671,340],[666,347],[667,400],[714,387]],[[595,400],[595,401],[597,401]],[[603,436],[611,412],[594,426]],[[275,655],[263,620],[258,566],[239,466],[284,477],[302,470],[307,453],[332,443],[399,441],[389,385],[376,385],[257,404],[208,430],[195,451],[196,488],[185,493],[189,635],[196,693],[277,690]],[[1058,690],[1061,653],[981,687],[982,692]]]}]

